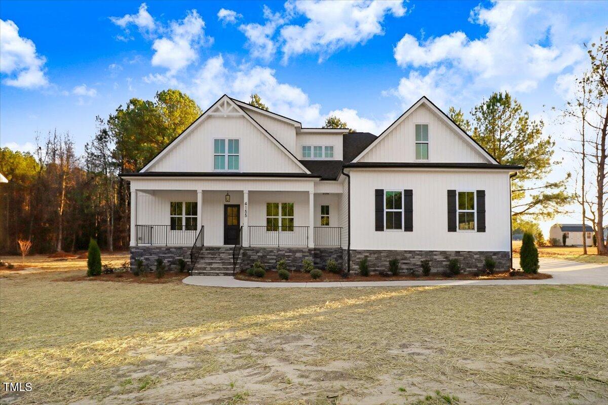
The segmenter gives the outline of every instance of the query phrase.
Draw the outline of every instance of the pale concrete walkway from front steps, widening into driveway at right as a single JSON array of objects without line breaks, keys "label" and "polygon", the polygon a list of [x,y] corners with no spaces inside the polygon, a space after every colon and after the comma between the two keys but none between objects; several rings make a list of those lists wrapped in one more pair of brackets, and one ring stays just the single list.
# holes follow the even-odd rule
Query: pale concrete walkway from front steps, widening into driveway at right
[{"label": "pale concrete walkway from front steps, widening into driveway at right", "polygon": [[420,285],[534,285],[593,284],[608,286],[608,265],[541,258],[541,271],[553,276],[545,280],[437,280],[437,281],[345,281],[345,282],[258,282],[235,280],[231,276],[190,276],[185,284],[232,288],[306,287],[414,287]]}]

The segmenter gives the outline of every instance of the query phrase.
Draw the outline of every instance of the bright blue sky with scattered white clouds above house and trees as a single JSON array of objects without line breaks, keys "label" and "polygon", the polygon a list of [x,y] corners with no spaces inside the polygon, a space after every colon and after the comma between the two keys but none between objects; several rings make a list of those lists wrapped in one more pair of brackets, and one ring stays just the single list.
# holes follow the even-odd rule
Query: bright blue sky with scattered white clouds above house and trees
[{"label": "bright blue sky with scattered white clouds above house and trees", "polygon": [[469,111],[509,90],[572,169],[573,128],[550,107],[570,97],[608,2],[2,1],[0,19],[2,146],[57,128],[82,151],[95,115],[168,87],[203,109],[257,92],[308,126],[337,114],[376,134],[421,95]]}]

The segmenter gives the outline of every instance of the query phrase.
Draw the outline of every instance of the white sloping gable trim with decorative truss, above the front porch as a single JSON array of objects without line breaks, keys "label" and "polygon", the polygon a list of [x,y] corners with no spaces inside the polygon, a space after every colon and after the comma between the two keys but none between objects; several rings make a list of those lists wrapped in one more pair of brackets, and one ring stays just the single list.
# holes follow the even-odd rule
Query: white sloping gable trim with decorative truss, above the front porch
[{"label": "white sloping gable trim with decorative truss, above the front porch", "polygon": [[[214,112],[214,110],[216,108],[220,109],[220,110],[223,109],[223,111]],[[261,110],[261,111],[265,111],[265,110]],[[261,126],[261,124],[258,123],[258,121],[254,120],[254,118],[251,117],[251,115],[247,114],[247,112],[244,111],[238,105],[237,102],[232,100],[232,98],[228,97],[226,94],[224,94],[222,97],[218,98],[218,100],[215,103],[213,103],[212,106],[210,106],[204,113],[202,113],[200,117],[196,118],[196,120],[192,124],[188,125],[188,127],[186,129],[184,129],[184,131],[182,131],[181,134],[179,134],[170,143],[168,143],[156,156],[154,156],[152,158],[152,160],[150,160],[150,162],[147,163],[147,165],[143,166],[143,168],[140,170],[140,172],[145,172],[149,168],[151,168],[151,166],[153,166],[154,163],[156,163],[158,160],[160,160],[164,154],[166,154],[168,151],[173,149],[182,139],[187,137],[188,134],[190,134],[190,132],[192,132],[193,128],[196,127],[197,123],[201,123],[202,120],[204,120],[207,117],[210,117],[211,115],[223,115],[224,117],[226,117],[227,115],[241,115],[241,116],[245,117],[248,121],[250,121],[250,123],[254,124],[254,126],[257,129],[259,129],[264,135],[266,135],[266,137],[268,137],[279,149],[281,149],[283,152],[285,152],[285,154],[288,155],[291,158],[291,160],[293,160],[294,163],[300,167],[300,169],[302,169],[305,173],[310,174],[308,169],[306,169],[306,167],[304,165],[302,165],[302,163],[300,163],[300,161],[297,159],[297,157],[295,157],[295,155],[292,154],[292,152],[289,151],[289,149],[285,148],[285,146],[283,146],[283,144],[280,143],[280,141],[278,141],[277,138],[272,136],[272,134],[270,132],[268,132],[268,130],[266,128]]]}]

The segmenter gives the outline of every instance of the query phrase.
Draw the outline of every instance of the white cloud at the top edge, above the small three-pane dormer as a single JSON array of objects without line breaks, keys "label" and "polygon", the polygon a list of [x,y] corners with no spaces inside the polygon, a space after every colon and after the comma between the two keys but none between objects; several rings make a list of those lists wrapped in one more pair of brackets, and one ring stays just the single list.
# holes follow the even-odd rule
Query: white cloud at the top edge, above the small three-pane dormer
[{"label": "white cloud at the top edge, above the small three-pane dormer", "polygon": [[382,35],[386,15],[401,17],[406,13],[401,0],[295,1],[286,7],[304,15],[308,22],[281,29],[284,62],[302,53],[319,53],[319,61],[323,61],[339,49]]}]

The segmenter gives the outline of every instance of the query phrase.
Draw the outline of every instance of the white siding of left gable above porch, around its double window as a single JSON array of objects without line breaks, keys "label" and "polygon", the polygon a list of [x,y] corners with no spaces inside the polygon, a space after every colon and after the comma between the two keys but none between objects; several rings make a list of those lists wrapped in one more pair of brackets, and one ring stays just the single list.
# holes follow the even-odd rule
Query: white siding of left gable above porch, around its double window
[{"label": "white siding of left gable above porch, around its double window", "polygon": [[244,116],[210,116],[196,125],[148,171],[212,172],[213,139],[239,138],[241,172],[304,172]]}]

